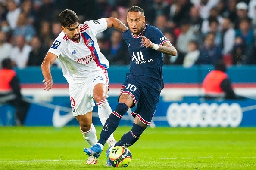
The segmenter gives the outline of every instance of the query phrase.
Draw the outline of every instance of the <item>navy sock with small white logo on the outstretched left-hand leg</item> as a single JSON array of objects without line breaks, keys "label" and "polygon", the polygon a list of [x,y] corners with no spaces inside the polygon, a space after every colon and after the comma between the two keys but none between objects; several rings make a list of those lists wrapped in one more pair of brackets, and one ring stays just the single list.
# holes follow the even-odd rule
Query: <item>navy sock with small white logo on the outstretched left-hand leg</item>
[{"label": "navy sock with small white logo on the outstretched left-hand leg", "polygon": [[128,106],[125,103],[118,103],[115,111],[113,111],[109,115],[109,118],[106,120],[106,123],[104,124],[103,129],[100,133],[100,139],[98,143],[102,144],[103,146],[105,145],[110,135],[118,127],[122,116],[125,115],[127,110],[128,110]]}]

